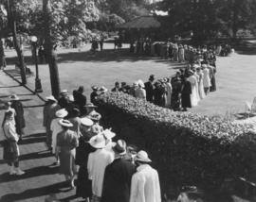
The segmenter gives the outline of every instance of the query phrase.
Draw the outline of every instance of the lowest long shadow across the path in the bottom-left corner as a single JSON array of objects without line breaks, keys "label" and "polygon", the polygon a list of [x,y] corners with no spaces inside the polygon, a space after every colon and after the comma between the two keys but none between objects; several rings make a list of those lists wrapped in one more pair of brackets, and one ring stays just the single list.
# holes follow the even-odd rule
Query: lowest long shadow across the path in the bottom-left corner
[{"label": "lowest long shadow across the path in the bottom-left corner", "polygon": [[59,182],[45,187],[35,188],[26,190],[20,194],[6,194],[3,195],[2,202],[12,202],[12,201],[23,201],[29,198],[39,197],[48,194],[57,194],[63,192],[61,189],[66,188],[68,185],[66,182]]}]

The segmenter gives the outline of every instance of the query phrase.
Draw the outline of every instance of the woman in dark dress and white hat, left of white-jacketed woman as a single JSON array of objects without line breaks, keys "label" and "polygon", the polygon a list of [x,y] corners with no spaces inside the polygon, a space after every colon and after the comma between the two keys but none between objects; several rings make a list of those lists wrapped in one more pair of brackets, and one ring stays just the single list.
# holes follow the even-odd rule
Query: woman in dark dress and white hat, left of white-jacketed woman
[{"label": "woman in dark dress and white hat, left of white-jacketed woman", "polygon": [[82,136],[79,139],[75,160],[75,163],[80,166],[76,194],[77,196],[85,198],[86,201],[89,201],[88,198],[92,196],[92,181],[88,178],[87,160],[89,154],[96,150],[88,143],[90,138],[94,136],[94,134],[90,132],[91,126],[93,126],[93,121],[86,117],[81,119]]}]

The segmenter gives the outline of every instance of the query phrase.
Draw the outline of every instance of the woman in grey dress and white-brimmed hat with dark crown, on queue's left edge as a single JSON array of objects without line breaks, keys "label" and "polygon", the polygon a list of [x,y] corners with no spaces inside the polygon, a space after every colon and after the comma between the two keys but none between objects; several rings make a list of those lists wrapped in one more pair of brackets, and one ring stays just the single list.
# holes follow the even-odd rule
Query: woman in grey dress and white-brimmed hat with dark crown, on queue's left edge
[{"label": "woman in grey dress and white-brimmed hat with dark crown, on queue's left edge", "polygon": [[75,148],[78,146],[78,137],[69,127],[73,126],[67,120],[60,120],[63,131],[57,134],[57,149],[60,156],[60,174],[64,174],[66,180],[70,180],[71,188],[74,188],[74,178],[77,172],[75,165]]}]

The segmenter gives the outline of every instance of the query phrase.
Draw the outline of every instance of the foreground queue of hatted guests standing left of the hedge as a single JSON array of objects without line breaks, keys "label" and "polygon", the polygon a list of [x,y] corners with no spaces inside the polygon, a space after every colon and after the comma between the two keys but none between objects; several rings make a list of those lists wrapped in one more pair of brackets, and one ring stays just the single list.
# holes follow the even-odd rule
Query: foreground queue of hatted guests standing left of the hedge
[{"label": "foreground queue of hatted guests standing left of the hedge", "polygon": [[[92,89],[98,95],[106,92],[104,87]],[[59,100],[46,97],[46,144],[60,174],[85,201],[160,202],[158,174],[147,152],[137,152],[136,146],[118,140],[111,128],[103,128],[97,106],[87,103],[82,92],[80,87],[73,95],[62,91]]]}]

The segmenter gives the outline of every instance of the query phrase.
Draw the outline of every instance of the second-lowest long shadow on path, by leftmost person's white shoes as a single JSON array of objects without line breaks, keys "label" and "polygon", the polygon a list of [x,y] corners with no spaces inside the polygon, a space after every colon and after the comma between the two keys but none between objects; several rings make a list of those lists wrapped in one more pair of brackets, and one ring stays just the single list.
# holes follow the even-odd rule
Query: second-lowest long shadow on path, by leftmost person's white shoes
[{"label": "second-lowest long shadow on path, by leftmost person's white shoes", "polygon": [[39,177],[39,176],[46,176],[46,175],[53,175],[59,172],[59,166],[49,167],[49,166],[39,166],[25,170],[25,174],[22,176],[10,176],[9,173],[4,173],[0,175],[0,184],[9,182],[9,181],[16,181],[20,179],[27,179],[30,177]]}]

